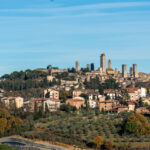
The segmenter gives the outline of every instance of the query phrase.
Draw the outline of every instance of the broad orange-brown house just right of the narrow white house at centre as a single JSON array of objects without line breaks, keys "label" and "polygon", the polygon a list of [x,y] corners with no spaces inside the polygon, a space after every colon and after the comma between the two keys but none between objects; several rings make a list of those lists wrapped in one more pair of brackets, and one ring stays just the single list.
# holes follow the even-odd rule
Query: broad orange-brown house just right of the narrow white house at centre
[{"label": "broad orange-brown house just right of the narrow white house at centre", "polygon": [[107,111],[107,110],[113,109],[118,104],[119,102],[117,100],[104,100],[98,103],[100,111],[102,110]]}]

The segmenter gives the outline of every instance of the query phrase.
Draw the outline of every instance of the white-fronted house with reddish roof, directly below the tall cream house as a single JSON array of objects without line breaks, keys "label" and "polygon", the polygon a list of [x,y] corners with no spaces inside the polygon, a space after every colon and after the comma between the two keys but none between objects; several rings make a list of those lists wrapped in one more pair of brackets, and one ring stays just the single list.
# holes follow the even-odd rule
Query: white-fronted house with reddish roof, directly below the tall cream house
[{"label": "white-fronted house with reddish roof, directly below the tall cream house", "polygon": [[58,99],[47,99],[43,101],[43,111],[46,111],[46,107],[49,111],[57,111],[60,108],[60,100]]}]

